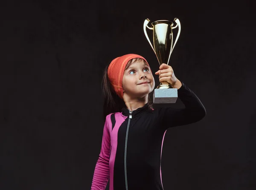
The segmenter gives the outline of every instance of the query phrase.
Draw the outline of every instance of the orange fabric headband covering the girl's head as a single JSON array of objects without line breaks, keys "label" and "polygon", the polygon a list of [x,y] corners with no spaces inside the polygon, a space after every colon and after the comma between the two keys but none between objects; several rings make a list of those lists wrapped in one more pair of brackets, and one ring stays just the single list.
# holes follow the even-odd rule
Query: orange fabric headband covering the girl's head
[{"label": "orange fabric headband covering the girl's head", "polygon": [[[121,57],[116,57],[113,61],[111,61],[110,65],[108,66],[108,78],[116,94],[121,99],[123,96],[122,78],[125,72],[125,67],[127,63],[134,58],[141,58],[145,60],[144,57],[137,54],[126,54]],[[145,62],[148,65],[147,60],[145,60]]]}]

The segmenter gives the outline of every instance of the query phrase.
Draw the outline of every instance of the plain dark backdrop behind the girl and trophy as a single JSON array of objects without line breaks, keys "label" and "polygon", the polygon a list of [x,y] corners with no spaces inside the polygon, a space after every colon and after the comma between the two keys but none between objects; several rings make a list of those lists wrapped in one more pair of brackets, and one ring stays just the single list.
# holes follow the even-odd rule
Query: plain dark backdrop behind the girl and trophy
[{"label": "plain dark backdrop behind the girl and trophy", "polygon": [[249,0],[2,3],[0,190],[89,190],[103,68],[136,53],[157,71],[143,22],[175,17],[181,33],[169,64],[207,116],[167,130],[164,189],[256,189],[255,8]]}]

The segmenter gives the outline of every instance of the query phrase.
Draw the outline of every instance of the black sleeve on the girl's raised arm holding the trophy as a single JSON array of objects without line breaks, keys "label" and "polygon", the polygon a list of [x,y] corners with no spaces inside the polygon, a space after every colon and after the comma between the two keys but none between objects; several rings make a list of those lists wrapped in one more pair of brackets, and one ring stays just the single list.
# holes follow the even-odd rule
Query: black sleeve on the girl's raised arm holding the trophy
[{"label": "black sleeve on the girl's raised arm holding the trophy", "polygon": [[200,99],[183,83],[177,90],[178,98],[185,108],[162,108],[163,128],[187,125],[198,122],[206,116],[206,110]]}]

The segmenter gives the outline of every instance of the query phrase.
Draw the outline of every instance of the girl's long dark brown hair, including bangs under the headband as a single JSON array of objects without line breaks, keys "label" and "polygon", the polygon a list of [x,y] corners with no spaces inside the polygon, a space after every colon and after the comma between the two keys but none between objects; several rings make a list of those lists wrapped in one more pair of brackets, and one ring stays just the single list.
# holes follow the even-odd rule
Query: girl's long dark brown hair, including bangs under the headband
[{"label": "girl's long dark brown hair, including bangs under the headband", "polygon": [[[130,61],[128,61],[125,70],[135,61],[137,60],[143,60],[141,58],[134,58]],[[143,62],[146,64],[145,60]],[[111,85],[111,81],[108,78],[108,66],[105,67],[104,73],[103,73],[103,79],[102,79],[102,94],[103,94],[103,119],[106,119],[106,116],[110,113],[115,112],[121,112],[122,108],[125,108],[125,102],[123,99],[121,99],[116,92],[113,89],[113,86]],[[148,94],[148,106],[149,108],[152,108],[151,104],[151,93]]]}]

